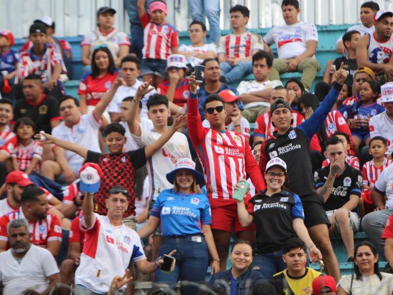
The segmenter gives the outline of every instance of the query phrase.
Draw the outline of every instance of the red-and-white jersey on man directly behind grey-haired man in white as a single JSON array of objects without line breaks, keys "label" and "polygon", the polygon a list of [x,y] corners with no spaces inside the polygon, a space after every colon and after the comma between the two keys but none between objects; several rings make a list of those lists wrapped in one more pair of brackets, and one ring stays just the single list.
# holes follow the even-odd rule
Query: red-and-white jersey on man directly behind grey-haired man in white
[{"label": "red-and-white jersey on man directly behind grey-haired man in white", "polygon": [[[7,226],[8,223],[15,219],[25,219],[22,207],[18,211],[10,212],[0,218],[0,241],[8,242]],[[53,214],[48,214],[44,219],[36,222],[27,220],[29,231],[32,234],[30,243],[33,245],[46,248],[50,241],[62,241],[62,227],[60,221]],[[7,249],[9,245],[7,245]]]}]

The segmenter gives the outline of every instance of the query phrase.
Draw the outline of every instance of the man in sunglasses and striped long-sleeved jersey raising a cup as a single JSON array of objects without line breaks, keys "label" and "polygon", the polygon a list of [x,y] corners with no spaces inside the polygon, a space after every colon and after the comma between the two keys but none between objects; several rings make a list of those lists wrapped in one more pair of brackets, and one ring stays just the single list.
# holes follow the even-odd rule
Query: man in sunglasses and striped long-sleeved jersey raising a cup
[{"label": "man in sunglasses and striped long-sleeved jersey raising a cup", "polygon": [[[192,128],[188,131],[203,166],[213,221],[211,229],[220,256],[220,268],[225,270],[232,230],[239,239],[255,242],[255,225],[245,228],[237,218],[236,199],[232,199],[235,185],[240,180],[246,180],[246,173],[255,185],[256,192],[264,188],[264,181],[246,137],[225,128],[223,99],[215,94],[207,96],[204,109],[210,128],[204,128],[196,91],[195,75],[192,74],[187,113],[187,124]],[[247,194],[246,202],[250,198],[251,195]]]}]

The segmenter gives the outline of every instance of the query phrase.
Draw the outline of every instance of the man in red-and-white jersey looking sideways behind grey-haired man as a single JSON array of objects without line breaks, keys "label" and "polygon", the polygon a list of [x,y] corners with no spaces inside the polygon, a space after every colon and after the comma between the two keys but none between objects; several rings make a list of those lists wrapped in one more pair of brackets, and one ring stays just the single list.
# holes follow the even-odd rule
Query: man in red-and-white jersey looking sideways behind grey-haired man
[{"label": "man in red-and-white jersey looking sideways behind grey-haired man", "polygon": [[27,219],[33,245],[48,249],[56,256],[62,243],[62,227],[55,215],[47,214],[49,206],[45,192],[37,187],[26,187],[21,195],[19,210],[0,218],[0,252],[9,249],[7,225],[14,219]]}]

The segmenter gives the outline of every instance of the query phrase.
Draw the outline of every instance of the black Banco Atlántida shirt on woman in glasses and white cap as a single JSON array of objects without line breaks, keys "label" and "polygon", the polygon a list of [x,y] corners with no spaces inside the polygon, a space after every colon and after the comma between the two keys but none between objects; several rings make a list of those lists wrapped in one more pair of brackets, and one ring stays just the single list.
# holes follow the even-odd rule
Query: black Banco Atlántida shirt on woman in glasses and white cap
[{"label": "black Banco Atl\u00e1ntida shirt on woman in glasses and white cap", "polygon": [[263,190],[250,200],[247,211],[254,216],[258,254],[281,250],[287,239],[296,237],[292,220],[304,219],[299,196],[287,191],[269,197]]}]

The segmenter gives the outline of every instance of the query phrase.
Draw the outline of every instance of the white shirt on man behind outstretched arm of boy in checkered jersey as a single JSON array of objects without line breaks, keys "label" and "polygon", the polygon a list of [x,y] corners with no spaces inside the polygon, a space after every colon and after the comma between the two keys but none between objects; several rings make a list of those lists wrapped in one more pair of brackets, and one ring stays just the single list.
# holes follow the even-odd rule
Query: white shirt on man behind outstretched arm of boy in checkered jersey
[{"label": "white shirt on man behind outstretched arm of boy in checkered jersey", "polygon": [[[100,125],[101,119],[98,121],[93,113],[84,114],[80,116],[79,122],[72,126],[72,128],[67,127],[63,121],[52,129],[52,135],[79,144],[90,151],[100,153],[101,149],[98,139]],[[64,151],[64,155],[71,169],[78,173],[84,159],[78,154],[67,150]]]}]

